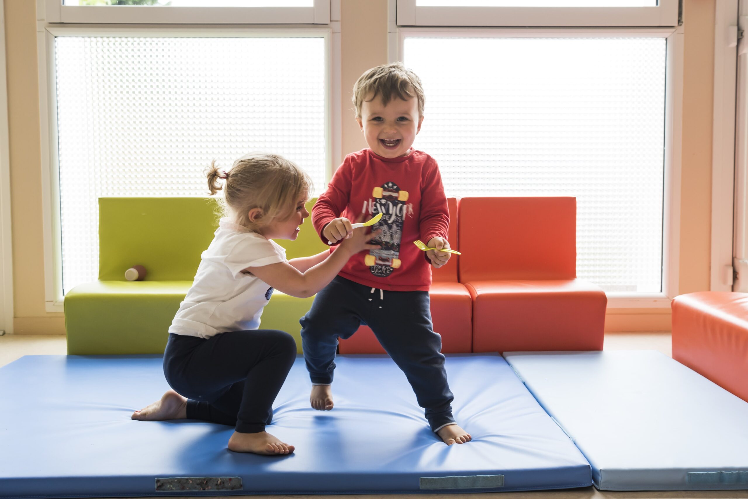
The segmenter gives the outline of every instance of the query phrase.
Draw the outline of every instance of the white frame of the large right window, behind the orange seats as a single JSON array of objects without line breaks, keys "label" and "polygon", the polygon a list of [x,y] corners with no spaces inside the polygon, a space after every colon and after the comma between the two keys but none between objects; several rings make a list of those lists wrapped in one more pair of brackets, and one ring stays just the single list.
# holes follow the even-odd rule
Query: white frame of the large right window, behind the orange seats
[{"label": "white frame of the large right window, behind the orange seats", "polygon": [[[397,0],[400,1],[400,0]],[[678,295],[681,220],[683,28],[399,28],[390,17],[391,62],[402,61],[406,37],[661,37],[666,39],[662,291],[607,291],[608,309],[669,309]]]}]

